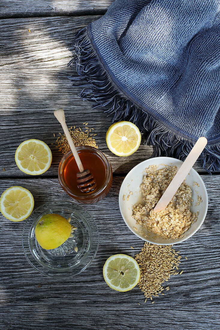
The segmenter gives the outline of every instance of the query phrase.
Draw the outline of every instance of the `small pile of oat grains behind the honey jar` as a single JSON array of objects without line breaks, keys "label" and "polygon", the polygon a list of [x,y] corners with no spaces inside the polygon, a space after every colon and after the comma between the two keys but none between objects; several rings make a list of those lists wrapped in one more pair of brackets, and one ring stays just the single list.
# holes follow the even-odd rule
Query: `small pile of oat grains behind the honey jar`
[{"label": "small pile of oat grains behind the honey jar", "polygon": [[[94,148],[98,148],[94,138],[94,136],[96,136],[97,134],[93,134],[92,132],[94,128],[89,128],[87,122],[84,122],[83,125],[85,125],[85,132],[81,129],[81,127],[79,128],[76,128],[76,126],[69,127],[69,132],[75,146],[76,147],[91,146]],[[58,148],[58,150],[61,151],[62,153],[66,153],[70,150],[65,134],[62,135],[61,133],[59,133],[59,136],[56,139],[55,144],[56,144],[56,148]]]}]

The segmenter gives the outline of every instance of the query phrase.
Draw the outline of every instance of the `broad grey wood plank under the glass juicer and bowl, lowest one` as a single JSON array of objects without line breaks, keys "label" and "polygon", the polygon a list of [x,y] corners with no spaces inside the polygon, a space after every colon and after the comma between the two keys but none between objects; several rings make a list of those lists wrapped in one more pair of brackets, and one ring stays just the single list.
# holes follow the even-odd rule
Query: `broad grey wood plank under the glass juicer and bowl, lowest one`
[{"label": "broad grey wood plank under the glass juicer and bowl, lowest one", "polygon": [[[155,298],[154,305],[144,304],[138,287],[116,292],[102,276],[110,255],[134,256],[143,246],[120,215],[118,193],[123,177],[114,178],[109,195],[95,207],[85,206],[99,229],[99,249],[90,267],[70,280],[52,280],[32,269],[21,247],[23,222],[13,223],[0,215],[0,329],[218,329],[220,177],[210,180],[202,175],[202,179],[209,196],[206,219],[193,237],[175,246],[188,257],[180,264],[184,272],[171,278],[170,290]],[[35,207],[68,200],[57,179],[5,179],[0,181],[0,193],[15,184],[32,192]]]}]

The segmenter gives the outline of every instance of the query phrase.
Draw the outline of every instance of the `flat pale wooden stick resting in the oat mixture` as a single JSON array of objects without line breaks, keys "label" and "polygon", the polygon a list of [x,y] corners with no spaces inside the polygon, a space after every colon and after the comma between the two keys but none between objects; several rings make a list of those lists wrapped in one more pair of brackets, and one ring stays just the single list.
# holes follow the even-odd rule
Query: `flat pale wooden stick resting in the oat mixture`
[{"label": "flat pale wooden stick resting in the oat mixture", "polygon": [[205,148],[207,144],[207,139],[201,137],[197,140],[196,144],[194,145],[193,149],[190,151],[188,156],[186,157],[185,161],[179,168],[178,172],[174,176],[173,180],[170,182],[168,187],[166,188],[164,194],[162,195],[161,199],[157,203],[154,208],[154,213],[160,212],[165,210],[173,196],[175,195],[176,191],[180,187],[183,180],[186,178],[187,174],[199,158],[202,150]]}]

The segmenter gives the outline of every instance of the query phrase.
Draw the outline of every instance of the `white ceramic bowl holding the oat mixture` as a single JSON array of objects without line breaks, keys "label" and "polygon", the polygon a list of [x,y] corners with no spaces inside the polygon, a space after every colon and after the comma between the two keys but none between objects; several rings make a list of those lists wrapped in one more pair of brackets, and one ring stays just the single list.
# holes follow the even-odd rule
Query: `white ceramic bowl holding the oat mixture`
[{"label": "white ceramic bowl holding the oat mixture", "polygon": [[[187,240],[191,237],[202,225],[202,222],[205,219],[207,208],[208,208],[208,195],[205,188],[204,182],[200,175],[194,170],[191,169],[190,173],[187,175],[186,184],[188,184],[192,190],[193,204],[191,212],[195,213],[199,211],[198,220],[191,225],[191,227],[184,233],[182,238],[173,240],[173,239],[164,239],[156,237],[155,234],[148,231],[146,228],[143,228],[140,225],[136,224],[136,220],[132,218],[132,205],[142,203],[142,194],[140,192],[140,184],[145,175],[144,171],[149,165],[175,165],[178,169],[183,162],[179,159],[170,158],[170,157],[156,157],[150,158],[142,163],[136,165],[125,177],[122,182],[121,189],[119,192],[119,207],[122,214],[122,217],[127,224],[128,228],[142,240],[159,245],[169,245],[177,244]],[[163,168],[161,165],[159,168]],[[193,184],[197,182],[199,184]],[[132,191],[132,194],[130,194]],[[125,200],[123,201],[123,195],[125,195]],[[127,200],[127,196],[129,199]],[[201,196],[202,202],[196,206],[198,202],[197,196]],[[136,229],[135,229],[136,228]],[[146,237],[147,236],[147,237]]]}]

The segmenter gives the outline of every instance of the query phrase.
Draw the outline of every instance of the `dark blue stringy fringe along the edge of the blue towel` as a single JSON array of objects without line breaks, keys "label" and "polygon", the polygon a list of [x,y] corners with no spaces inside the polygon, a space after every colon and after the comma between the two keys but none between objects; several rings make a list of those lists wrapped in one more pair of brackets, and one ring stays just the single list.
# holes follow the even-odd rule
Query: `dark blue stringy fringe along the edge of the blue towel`
[{"label": "dark blue stringy fringe along the edge of the blue towel", "polygon": [[[112,115],[112,122],[129,120],[137,125],[142,133],[147,134],[145,143],[155,147],[153,157],[165,155],[184,160],[196,140],[165,126],[151,114],[138,108],[124,91],[119,90],[98,56],[88,27],[77,33],[73,47],[75,57],[68,66],[76,63],[78,76],[69,78],[83,82],[81,86],[84,88],[79,96],[83,100],[96,102],[93,108],[106,108],[104,112]],[[219,171],[220,142],[208,143],[200,159],[202,167],[209,173]]]}]

